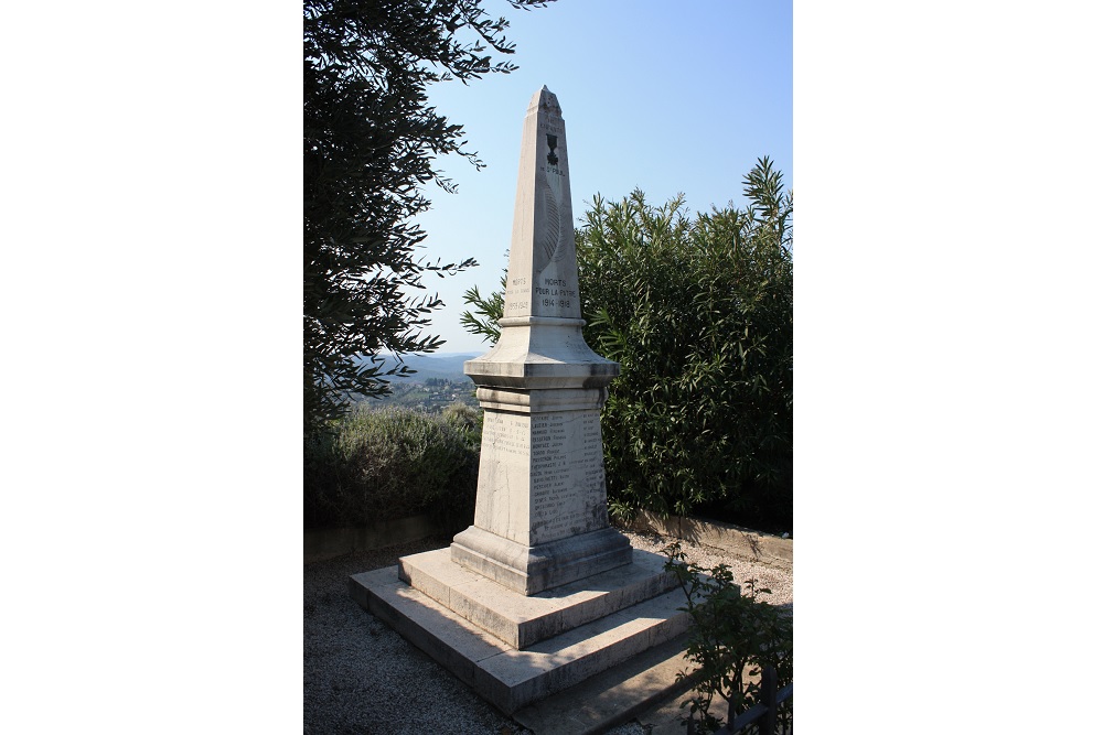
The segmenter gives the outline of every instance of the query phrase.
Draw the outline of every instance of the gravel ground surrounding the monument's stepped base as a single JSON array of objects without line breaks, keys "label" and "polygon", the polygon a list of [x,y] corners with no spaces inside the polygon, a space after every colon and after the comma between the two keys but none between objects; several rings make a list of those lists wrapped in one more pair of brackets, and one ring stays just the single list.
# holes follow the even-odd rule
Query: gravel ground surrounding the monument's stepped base
[{"label": "gravel ground surrounding the monument's stepped base", "polygon": [[[657,534],[627,536],[634,547],[656,553],[668,543]],[[351,575],[450,542],[433,537],[303,566],[304,733],[531,735],[349,596]],[[706,568],[728,564],[737,582],[757,579],[759,586],[773,591],[770,602],[792,605],[791,570],[746,562],[708,547],[686,545],[685,551]],[[609,735],[645,732],[629,723]]]}]

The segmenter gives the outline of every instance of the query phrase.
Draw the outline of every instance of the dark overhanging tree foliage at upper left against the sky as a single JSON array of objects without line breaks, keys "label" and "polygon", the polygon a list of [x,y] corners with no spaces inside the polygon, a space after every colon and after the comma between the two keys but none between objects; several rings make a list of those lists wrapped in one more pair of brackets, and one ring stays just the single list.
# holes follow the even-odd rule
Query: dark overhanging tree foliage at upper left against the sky
[{"label": "dark overhanging tree foliage at upper left against the sky", "polygon": [[[514,8],[543,7],[508,0]],[[387,392],[381,352],[437,349],[427,335],[441,305],[422,275],[443,278],[474,260],[430,261],[415,251],[411,219],[429,207],[424,186],[452,184],[436,155],[463,150],[463,129],[428,105],[426,87],[517,68],[505,19],[482,0],[303,2],[303,398],[306,430],[354,396]],[[409,290],[424,291],[410,296]]]}]

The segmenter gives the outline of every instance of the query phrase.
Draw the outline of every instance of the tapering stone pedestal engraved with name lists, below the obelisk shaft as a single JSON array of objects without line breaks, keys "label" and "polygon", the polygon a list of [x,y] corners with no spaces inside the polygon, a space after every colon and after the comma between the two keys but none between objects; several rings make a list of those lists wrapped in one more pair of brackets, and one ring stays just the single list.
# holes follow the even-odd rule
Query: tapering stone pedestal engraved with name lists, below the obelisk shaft
[{"label": "tapering stone pedestal engraved with name lists, below the obelisk shaft", "polygon": [[[486,359],[493,355],[469,361],[469,375],[492,381],[494,368],[516,365]],[[593,377],[587,364],[544,365],[549,374],[559,366]],[[478,391],[483,435],[474,525],[457,534],[452,560],[526,595],[632,561],[628,539],[609,526],[606,505],[606,389],[580,387],[582,377],[574,382]]]}]

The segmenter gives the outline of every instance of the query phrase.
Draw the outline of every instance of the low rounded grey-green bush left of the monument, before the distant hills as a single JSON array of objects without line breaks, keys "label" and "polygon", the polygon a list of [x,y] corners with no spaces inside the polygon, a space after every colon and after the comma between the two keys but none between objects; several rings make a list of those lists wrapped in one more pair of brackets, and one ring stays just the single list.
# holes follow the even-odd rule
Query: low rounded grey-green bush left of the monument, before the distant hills
[{"label": "low rounded grey-green bush left of the monument, before the distant hills", "polygon": [[308,528],[356,527],[429,514],[446,530],[474,518],[479,435],[461,420],[409,409],[358,409],[304,447]]}]

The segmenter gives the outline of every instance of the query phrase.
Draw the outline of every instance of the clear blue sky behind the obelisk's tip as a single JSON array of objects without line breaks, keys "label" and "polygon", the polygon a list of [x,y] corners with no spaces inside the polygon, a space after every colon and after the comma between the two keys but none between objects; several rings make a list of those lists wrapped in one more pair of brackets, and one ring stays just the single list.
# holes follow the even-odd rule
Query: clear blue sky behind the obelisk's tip
[{"label": "clear blue sky behind the obelisk's tip", "polygon": [[419,217],[424,255],[480,263],[425,280],[447,304],[433,316],[432,332],[448,341],[440,352],[488,348],[459,324],[462,293],[493,290],[506,264],[522,121],[544,85],[563,106],[576,220],[595,194],[619,199],[636,187],[656,204],[682,192],[690,210],[739,205],[742,176],[761,155],[792,186],[792,2],[560,0],[531,12],[485,4],[510,21],[510,58],[521,68],[429,93],[486,163],[475,171],[460,156],[438,158],[459,192],[430,185],[432,209]]}]

